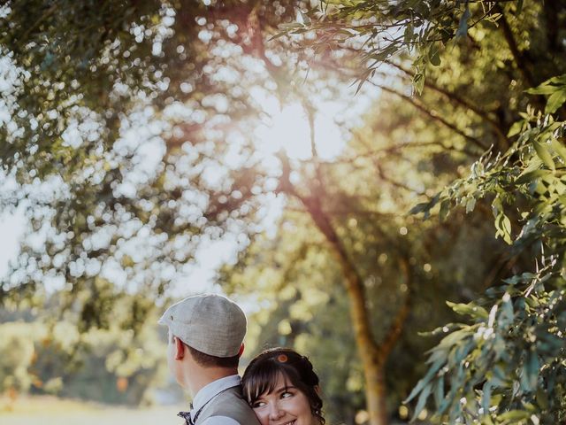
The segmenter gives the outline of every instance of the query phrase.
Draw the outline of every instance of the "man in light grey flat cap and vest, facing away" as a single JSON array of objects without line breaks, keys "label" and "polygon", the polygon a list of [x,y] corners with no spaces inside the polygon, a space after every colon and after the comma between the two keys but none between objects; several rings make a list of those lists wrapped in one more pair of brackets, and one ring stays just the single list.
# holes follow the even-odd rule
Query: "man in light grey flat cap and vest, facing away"
[{"label": "man in light grey flat cap and vest, facing away", "polygon": [[197,295],[170,306],[159,323],[169,328],[169,368],[193,399],[191,411],[179,413],[187,425],[259,425],[241,395],[241,308],[219,295]]}]

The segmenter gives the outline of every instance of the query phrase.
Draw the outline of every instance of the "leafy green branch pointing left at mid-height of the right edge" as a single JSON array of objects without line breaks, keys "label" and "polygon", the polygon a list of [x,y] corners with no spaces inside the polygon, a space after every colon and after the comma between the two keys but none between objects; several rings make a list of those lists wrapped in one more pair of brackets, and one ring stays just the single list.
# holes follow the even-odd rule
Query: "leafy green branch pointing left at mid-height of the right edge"
[{"label": "leafy green branch pointing left at mid-height of the right edge", "polygon": [[[546,249],[547,256],[557,256],[558,267],[563,267],[566,148],[562,141],[566,122],[540,113],[523,116],[522,131],[509,151],[496,158],[486,154],[471,167],[468,178],[454,182],[430,203],[417,205],[412,211],[448,204],[463,206],[469,212],[477,201],[489,197],[496,236],[517,251],[542,246],[542,253]],[[516,205],[520,205],[518,213],[510,208]],[[516,223],[515,232],[511,220]]]}]

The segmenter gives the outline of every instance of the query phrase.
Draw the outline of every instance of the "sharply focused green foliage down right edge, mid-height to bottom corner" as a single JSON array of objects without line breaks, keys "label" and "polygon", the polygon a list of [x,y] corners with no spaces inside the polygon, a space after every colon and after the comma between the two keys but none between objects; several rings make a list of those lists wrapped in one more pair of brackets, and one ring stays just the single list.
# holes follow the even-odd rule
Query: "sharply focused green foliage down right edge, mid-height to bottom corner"
[{"label": "sharply focused green foliage down right edge, mid-height to bottom corner", "polygon": [[[563,79],[528,91],[549,95],[546,111],[556,111],[566,98],[556,101],[562,86],[553,83]],[[418,396],[416,414],[433,398],[437,418],[447,423],[565,419],[566,122],[532,108],[522,116],[512,128],[516,142],[509,151],[496,158],[487,154],[472,166],[468,178],[414,209],[449,204],[468,211],[476,201],[489,198],[496,236],[515,252],[528,250],[536,263],[532,272],[509,277],[474,304],[451,304],[456,313],[470,314],[474,323],[456,325],[430,352],[428,373],[407,399]]]}]

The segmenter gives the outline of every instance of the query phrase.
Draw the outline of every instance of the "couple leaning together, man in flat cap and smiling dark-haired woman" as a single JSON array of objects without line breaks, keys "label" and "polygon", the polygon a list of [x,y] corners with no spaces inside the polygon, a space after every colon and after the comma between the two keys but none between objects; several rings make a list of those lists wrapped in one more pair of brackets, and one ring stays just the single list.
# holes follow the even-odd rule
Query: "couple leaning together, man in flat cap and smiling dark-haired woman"
[{"label": "couple leaning together, man in flat cap and smiling dark-haired woman", "polygon": [[288,348],[260,353],[238,375],[246,316],[219,295],[197,295],[169,307],[167,361],[188,391],[186,425],[324,425],[318,377],[309,359]]}]

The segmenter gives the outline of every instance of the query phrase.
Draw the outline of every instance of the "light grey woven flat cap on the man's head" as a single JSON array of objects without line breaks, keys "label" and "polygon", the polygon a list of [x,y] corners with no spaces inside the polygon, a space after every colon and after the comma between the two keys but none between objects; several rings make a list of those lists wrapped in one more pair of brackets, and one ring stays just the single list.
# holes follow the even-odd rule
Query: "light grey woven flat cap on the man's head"
[{"label": "light grey woven flat cap on the man's head", "polygon": [[226,297],[214,294],[185,298],[169,307],[159,324],[199,352],[233,357],[246,335],[246,315]]}]

